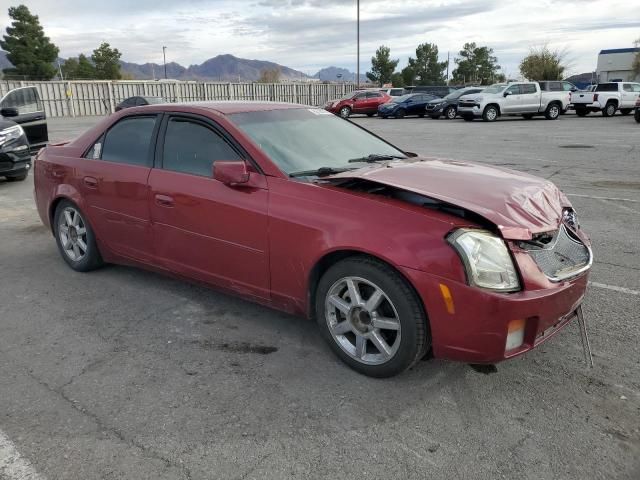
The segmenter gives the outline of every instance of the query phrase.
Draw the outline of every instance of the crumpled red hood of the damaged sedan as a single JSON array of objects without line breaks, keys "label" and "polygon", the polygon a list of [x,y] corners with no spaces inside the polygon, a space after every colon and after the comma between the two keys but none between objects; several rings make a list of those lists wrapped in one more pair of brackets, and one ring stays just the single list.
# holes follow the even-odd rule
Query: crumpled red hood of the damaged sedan
[{"label": "crumpled red hood of the damaged sedan", "polygon": [[502,236],[530,240],[557,230],[568,199],[553,183],[526,173],[440,158],[377,163],[323,180],[363,179],[440,200],[495,224]]}]

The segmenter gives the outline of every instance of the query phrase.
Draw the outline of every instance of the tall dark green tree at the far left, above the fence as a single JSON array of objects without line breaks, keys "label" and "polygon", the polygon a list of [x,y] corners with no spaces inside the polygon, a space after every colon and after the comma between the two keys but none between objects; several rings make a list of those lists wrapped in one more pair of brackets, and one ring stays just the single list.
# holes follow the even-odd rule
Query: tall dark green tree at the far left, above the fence
[{"label": "tall dark green tree at the far left, above the fence", "polygon": [[9,8],[9,17],[13,21],[0,40],[0,48],[7,52],[13,68],[4,69],[4,73],[30,80],[51,80],[56,74],[53,62],[59,50],[44,34],[38,16],[20,5]]}]

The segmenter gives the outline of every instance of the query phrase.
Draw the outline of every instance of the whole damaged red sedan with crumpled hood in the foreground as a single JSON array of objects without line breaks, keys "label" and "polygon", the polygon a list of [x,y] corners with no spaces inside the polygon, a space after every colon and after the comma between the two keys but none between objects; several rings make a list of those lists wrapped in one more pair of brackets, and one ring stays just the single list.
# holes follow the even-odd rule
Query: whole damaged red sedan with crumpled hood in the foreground
[{"label": "whole damaged red sedan with crumpled hood in the foreground", "polygon": [[313,317],[371,376],[534,348],[573,318],[593,258],[552,183],[301,105],[134,107],[34,163],[74,270],[137,265]]}]

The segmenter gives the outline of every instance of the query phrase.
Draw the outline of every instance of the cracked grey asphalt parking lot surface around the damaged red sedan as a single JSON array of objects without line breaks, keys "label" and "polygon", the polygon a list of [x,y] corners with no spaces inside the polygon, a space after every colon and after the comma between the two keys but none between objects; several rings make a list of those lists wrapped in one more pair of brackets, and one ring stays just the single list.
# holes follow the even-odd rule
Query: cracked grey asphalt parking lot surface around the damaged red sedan
[{"label": "cracked grey asphalt parking lot surface around the damaged red sedan", "polygon": [[[53,119],[51,139],[97,120]],[[640,478],[640,126],[353,121],[563,189],[594,244],[595,367],[574,322],[495,372],[367,378],[307,320],[132,268],[73,272],[32,177],[0,180],[0,478]]]}]

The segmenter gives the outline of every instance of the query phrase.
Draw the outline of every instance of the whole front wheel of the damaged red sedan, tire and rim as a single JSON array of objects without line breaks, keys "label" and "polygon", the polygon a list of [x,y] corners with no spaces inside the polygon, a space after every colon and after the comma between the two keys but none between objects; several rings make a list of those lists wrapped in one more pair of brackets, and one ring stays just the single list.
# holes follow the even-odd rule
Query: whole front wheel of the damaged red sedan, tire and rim
[{"label": "whole front wheel of the damaged red sedan, tire and rim", "polygon": [[[353,302],[351,291],[366,300]],[[381,293],[378,302],[367,306],[376,292]],[[396,270],[372,258],[355,256],[331,266],[318,284],[315,313],[334,353],[370,377],[402,373],[431,345],[416,293]],[[384,326],[375,327],[376,322]]]}]

